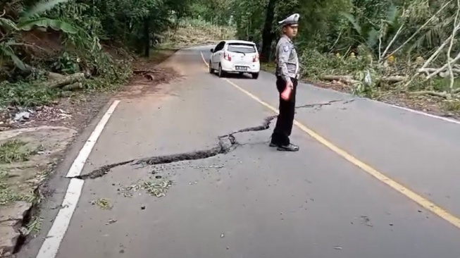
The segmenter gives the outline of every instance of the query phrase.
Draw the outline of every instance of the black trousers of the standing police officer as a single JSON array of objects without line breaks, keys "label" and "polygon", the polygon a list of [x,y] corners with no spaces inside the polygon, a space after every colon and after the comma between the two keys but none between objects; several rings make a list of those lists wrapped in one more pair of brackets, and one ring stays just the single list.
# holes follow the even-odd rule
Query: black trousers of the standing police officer
[{"label": "black trousers of the standing police officer", "polygon": [[286,81],[277,76],[276,87],[280,93],[280,114],[276,120],[275,129],[271,135],[271,142],[275,145],[289,145],[289,137],[292,132],[292,123],[294,123],[295,113],[295,95],[297,92],[297,79],[291,78],[294,89],[291,92],[291,97],[288,100],[281,98],[281,92],[286,88]]}]

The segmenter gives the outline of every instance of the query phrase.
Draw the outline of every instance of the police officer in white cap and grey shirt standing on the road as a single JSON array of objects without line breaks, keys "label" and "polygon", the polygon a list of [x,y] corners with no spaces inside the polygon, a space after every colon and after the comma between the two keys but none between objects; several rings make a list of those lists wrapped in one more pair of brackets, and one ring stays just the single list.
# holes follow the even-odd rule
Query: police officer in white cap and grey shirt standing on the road
[{"label": "police officer in white cap and grey shirt standing on the road", "polygon": [[[293,145],[289,137],[294,122],[295,95],[299,78],[299,59],[294,44],[292,44],[292,38],[297,35],[299,14],[294,13],[278,23],[282,27],[282,36],[276,45],[275,75],[276,87],[280,93],[280,114],[271,135],[270,146],[278,147],[280,151],[297,152],[299,147]],[[289,93],[289,90],[290,94],[286,94]]]}]

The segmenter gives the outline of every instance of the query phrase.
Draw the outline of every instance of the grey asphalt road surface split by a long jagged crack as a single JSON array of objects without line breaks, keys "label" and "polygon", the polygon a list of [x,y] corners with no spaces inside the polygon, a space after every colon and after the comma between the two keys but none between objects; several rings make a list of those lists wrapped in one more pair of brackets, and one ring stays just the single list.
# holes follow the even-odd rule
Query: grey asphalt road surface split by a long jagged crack
[{"label": "grey asphalt road surface split by a long jagged crack", "polygon": [[[209,59],[210,48],[179,51],[164,64],[184,78],[120,98],[80,176],[58,258],[459,257],[459,228],[299,128],[299,152],[268,147],[273,112],[207,72],[200,51]],[[278,106],[273,75],[229,80]],[[299,84],[297,94],[297,121],[460,216],[460,125],[311,85]],[[173,181],[163,197],[144,188],[123,194],[161,180]],[[35,257],[67,184],[51,181],[42,234],[18,257]],[[98,198],[112,209],[91,204]]]}]

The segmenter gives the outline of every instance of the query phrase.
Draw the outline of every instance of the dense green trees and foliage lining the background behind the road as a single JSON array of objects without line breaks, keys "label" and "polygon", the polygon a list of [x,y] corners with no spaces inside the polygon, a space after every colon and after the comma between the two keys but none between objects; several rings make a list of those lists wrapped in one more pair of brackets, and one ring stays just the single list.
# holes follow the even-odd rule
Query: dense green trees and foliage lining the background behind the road
[{"label": "dense green trees and foliage lining the background behind the road", "polygon": [[[148,55],[149,48],[161,42],[162,32],[174,30],[183,18],[233,26],[235,37],[261,44],[263,60],[271,61],[279,36],[277,21],[300,13],[296,44],[306,75],[347,73],[341,75],[348,76],[347,80],[351,76],[352,82],[368,75],[374,85],[392,75],[394,80],[385,81],[406,88],[417,85],[421,75],[424,82],[447,78],[449,87],[431,84],[429,90],[452,97],[457,92],[454,78],[460,73],[455,36],[460,26],[459,1],[0,0],[1,73],[3,78],[5,74],[11,77],[11,69],[33,66],[30,49],[36,46],[21,38],[31,30],[60,32],[66,51],[79,53],[82,61],[78,66],[92,74],[105,74],[113,68],[101,52],[101,42]],[[350,57],[359,61],[349,61]]]}]

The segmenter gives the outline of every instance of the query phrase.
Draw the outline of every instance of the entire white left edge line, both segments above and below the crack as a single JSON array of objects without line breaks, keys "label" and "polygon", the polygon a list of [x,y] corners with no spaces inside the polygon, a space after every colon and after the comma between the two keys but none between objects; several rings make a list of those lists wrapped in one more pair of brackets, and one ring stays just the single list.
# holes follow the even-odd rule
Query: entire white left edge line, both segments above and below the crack
[{"label": "entire white left edge line, both segments above and below the crack", "polygon": [[[82,173],[83,166],[85,166],[86,160],[88,159],[92,148],[96,144],[99,135],[101,135],[102,130],[104,130],[104,127],[108,122],[108,119],[112,116],[113,111],[115,111],[119,103],[119,100],[114,101],[106,113],[104,113],[104,116],[102,116],[101,120],[96,125],[96,128],[94,128],[91,135],[89,135],[87,142],[80,150],[77,158],[73,161],[72,166],[70,166],[67,177],[79,176],[80,173]],[[61,205],[61,209],[59,210],[56,219],[54,219],[53,226],[51,226],[48,235],[46,235],[43,245],[37,254],[37,258],[56,257],[59,246],[61,245],[61,241],[63,240],[64,235],[66,235],[67,228],[70,224],[70,219],[72,219],[73,212],[77,207],[78,199],[80,199],[80,195],[82,194],[84,183],[85,180],[77,178],[70,179],[66,196],[64,197]]]}]

